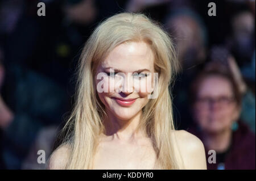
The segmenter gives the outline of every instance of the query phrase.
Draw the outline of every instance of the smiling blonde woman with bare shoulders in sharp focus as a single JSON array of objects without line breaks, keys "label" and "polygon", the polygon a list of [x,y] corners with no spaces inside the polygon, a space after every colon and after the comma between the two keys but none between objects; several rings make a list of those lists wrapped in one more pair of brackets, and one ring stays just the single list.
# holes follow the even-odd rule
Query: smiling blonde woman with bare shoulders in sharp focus
[{"label": "smiling blonde woman with bare shoulders in sharp focus", "polygon": [[199,138],[175,131],[176,69],[170,37],[145,15],[102,22],[81,54],[75,107],[48,168],[206,169]]}]

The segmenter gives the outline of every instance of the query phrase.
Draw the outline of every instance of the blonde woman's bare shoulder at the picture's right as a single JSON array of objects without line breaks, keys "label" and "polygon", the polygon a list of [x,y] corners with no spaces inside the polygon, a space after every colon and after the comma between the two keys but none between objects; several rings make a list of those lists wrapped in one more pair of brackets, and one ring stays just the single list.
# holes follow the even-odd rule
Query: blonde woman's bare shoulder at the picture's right
[{"label": "blonde woman's bare shoulder at the picture's right", "polygon": [[184,131],[174,131],[177,151],[179,151],[184,169],[207,169],[203,142],[195,135]]}]

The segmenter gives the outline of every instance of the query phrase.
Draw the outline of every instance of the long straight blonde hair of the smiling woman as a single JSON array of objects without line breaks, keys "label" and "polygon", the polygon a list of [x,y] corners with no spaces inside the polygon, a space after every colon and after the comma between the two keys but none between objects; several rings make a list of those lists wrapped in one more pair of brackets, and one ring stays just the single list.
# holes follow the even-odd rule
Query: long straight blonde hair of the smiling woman
[{"label": "long straight blonde hair of the smiling woman", "polygon": [[143,108],[140,128],[146,128],[161,169],[179,169],[174,154],[171,132],[175,130],[172,101],[168,85],[174,80],[177,61],[168,33],[143,14],[123,12],[114,15],[93,31],[82,50],[77,74],[75,107],[63,128],[62,145],[69,146],[69,160],[65,169],[92,169],[98,139],[105,131],[102,118],[104,105],[97,96],[94,76],[101,60],[117,45],[126,41],[145,41],[154,52],[155,71],[158,72],[159,95]]}]

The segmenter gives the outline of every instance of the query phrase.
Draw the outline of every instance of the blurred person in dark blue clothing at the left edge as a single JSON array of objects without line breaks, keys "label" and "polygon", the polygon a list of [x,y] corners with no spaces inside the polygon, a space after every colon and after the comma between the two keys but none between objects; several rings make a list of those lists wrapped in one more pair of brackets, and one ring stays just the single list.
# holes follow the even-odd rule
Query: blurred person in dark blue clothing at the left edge
[{"label": "blurred person in dark blue clothing at the left edge", "polygon": [[[1,62],[5,62],[1,57]],[[19,64],[8,64],[11,69],[3,65],[0,64],[2,165],[4,169],[20,169],[39,131],[61,123],[67,98],[59,86],[42,74]]]}]

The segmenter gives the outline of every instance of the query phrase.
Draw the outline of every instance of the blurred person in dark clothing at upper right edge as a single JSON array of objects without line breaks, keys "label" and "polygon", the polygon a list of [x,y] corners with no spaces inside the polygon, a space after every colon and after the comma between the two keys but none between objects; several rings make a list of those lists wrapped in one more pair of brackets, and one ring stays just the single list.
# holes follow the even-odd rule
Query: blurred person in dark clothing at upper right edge
[{"label": "blurred person in dark clothing at upper right edge", "polygon": [[[242,91],[241,117],[255,133],[255,1],[254,10],[240,10],[232,18],[232,33],[227,45],[246,82]],[[253,106],[254,105],[254,106]]]}]

